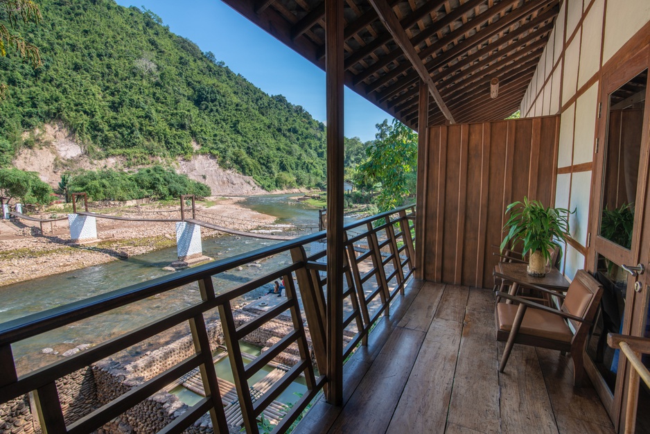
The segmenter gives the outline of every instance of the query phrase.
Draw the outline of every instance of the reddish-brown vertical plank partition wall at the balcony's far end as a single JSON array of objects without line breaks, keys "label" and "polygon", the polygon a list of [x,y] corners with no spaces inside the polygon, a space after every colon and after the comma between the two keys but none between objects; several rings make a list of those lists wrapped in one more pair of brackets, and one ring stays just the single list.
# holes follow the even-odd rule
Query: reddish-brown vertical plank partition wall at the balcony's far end
[{"label": "reddish-brown vertical plank partition wall at the balcony's far end", "polygon": [[[507,205],[524,196],[555,203],[559,116],[429,128],[423,277],[428,281],[492,287]],[[420,250],[422,251],[422,250]]]}]

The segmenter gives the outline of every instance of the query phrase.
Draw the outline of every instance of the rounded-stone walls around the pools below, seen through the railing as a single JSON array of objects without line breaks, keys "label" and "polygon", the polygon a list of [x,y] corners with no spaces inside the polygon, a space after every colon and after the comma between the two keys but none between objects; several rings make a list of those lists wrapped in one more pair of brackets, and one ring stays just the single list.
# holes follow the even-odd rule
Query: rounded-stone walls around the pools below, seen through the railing
[{"label": "rounded-stone walls around the pools below, seen through the railing", "polygon": [[[234,311],[237,326],[256,317],[256,314],[242,310]],[[261,328],[245,337],[245,341],[268,349],[282,336],[292,331],[290,317],[282,316],[270,320]],[[210,347],[215,351],[223,343],[220,321],[207,326]],[[195,354],[191,335],[185,336],[170,345],[151,351],[138,361],[122,365],[116,361],[99,361],[92,367],[73,372],[57,381],[57,388],[64,411],[66,423],[76,421],[99,406],[116,399],[130,389],[152,379]],[[297,345],[293,344],[276,361],[285,365],[295,365],[299,361]],[[120,417],[105,424],[99,434],[152,433],[182,415],[188,406],[167,392],[157,392],[152,397],[126,411]],[[233,433],[238,428],[233,427]],[[37,417],[30,411],[30,403],[25,395],[0,406],[0,434],[40,433]],[[212,433],[209,415],[201,417],[186,433]]]}]

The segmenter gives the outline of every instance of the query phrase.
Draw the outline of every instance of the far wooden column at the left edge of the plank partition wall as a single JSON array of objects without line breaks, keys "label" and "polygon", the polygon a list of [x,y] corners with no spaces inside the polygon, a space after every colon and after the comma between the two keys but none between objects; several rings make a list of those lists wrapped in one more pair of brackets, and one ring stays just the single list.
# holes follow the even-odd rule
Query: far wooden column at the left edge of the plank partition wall
[{"label": "far wooden column at the left edge of the plank partition wall", "polygon": [[[426,222],[427,189],[426,177],[428,173],[428,142],[429,129],[429,88],[423,80],[420,80],[420,96],[418,101],[418,180],[416,195],[416,217],[415,217],[415,238],[416,252],[414,276],[416,279],[424,279],[424,227]],[[407,225],[408,227],[408,225]]]}]

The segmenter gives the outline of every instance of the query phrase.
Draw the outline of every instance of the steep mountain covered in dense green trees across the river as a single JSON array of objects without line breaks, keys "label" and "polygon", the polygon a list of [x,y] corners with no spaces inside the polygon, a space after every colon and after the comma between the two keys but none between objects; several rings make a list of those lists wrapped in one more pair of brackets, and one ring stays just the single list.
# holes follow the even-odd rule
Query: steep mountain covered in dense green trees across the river
[{"label": "steep mountain covered in dense green trees across the river", "polygon": [[42,66],[0,57],[8,90],[0,166],[10,164],[25,131],[60,121],[93,158],[147,164],[208,153],[265,189],[324,182],[323,123],[171,33],[155,13],[112,0],[37,3],[42,22],[16,28],[39,47]]}]

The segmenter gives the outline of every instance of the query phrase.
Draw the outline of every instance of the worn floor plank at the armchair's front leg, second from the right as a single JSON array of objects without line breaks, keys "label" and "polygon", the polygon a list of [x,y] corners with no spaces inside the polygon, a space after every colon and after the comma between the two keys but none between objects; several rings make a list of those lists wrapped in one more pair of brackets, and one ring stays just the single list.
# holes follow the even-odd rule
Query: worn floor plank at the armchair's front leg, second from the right
[{"label": "worn floor plank at the armchair's front leg, second from the right", "polygon": [[[504,346],[504,342],[499,342],[498,357],[503,353]],[[532,427],[538,434],[558,433],[534,347],[515,345],[506,369],[499,374],[499,381],[501,424],[504,434],[525,433]]]}]

